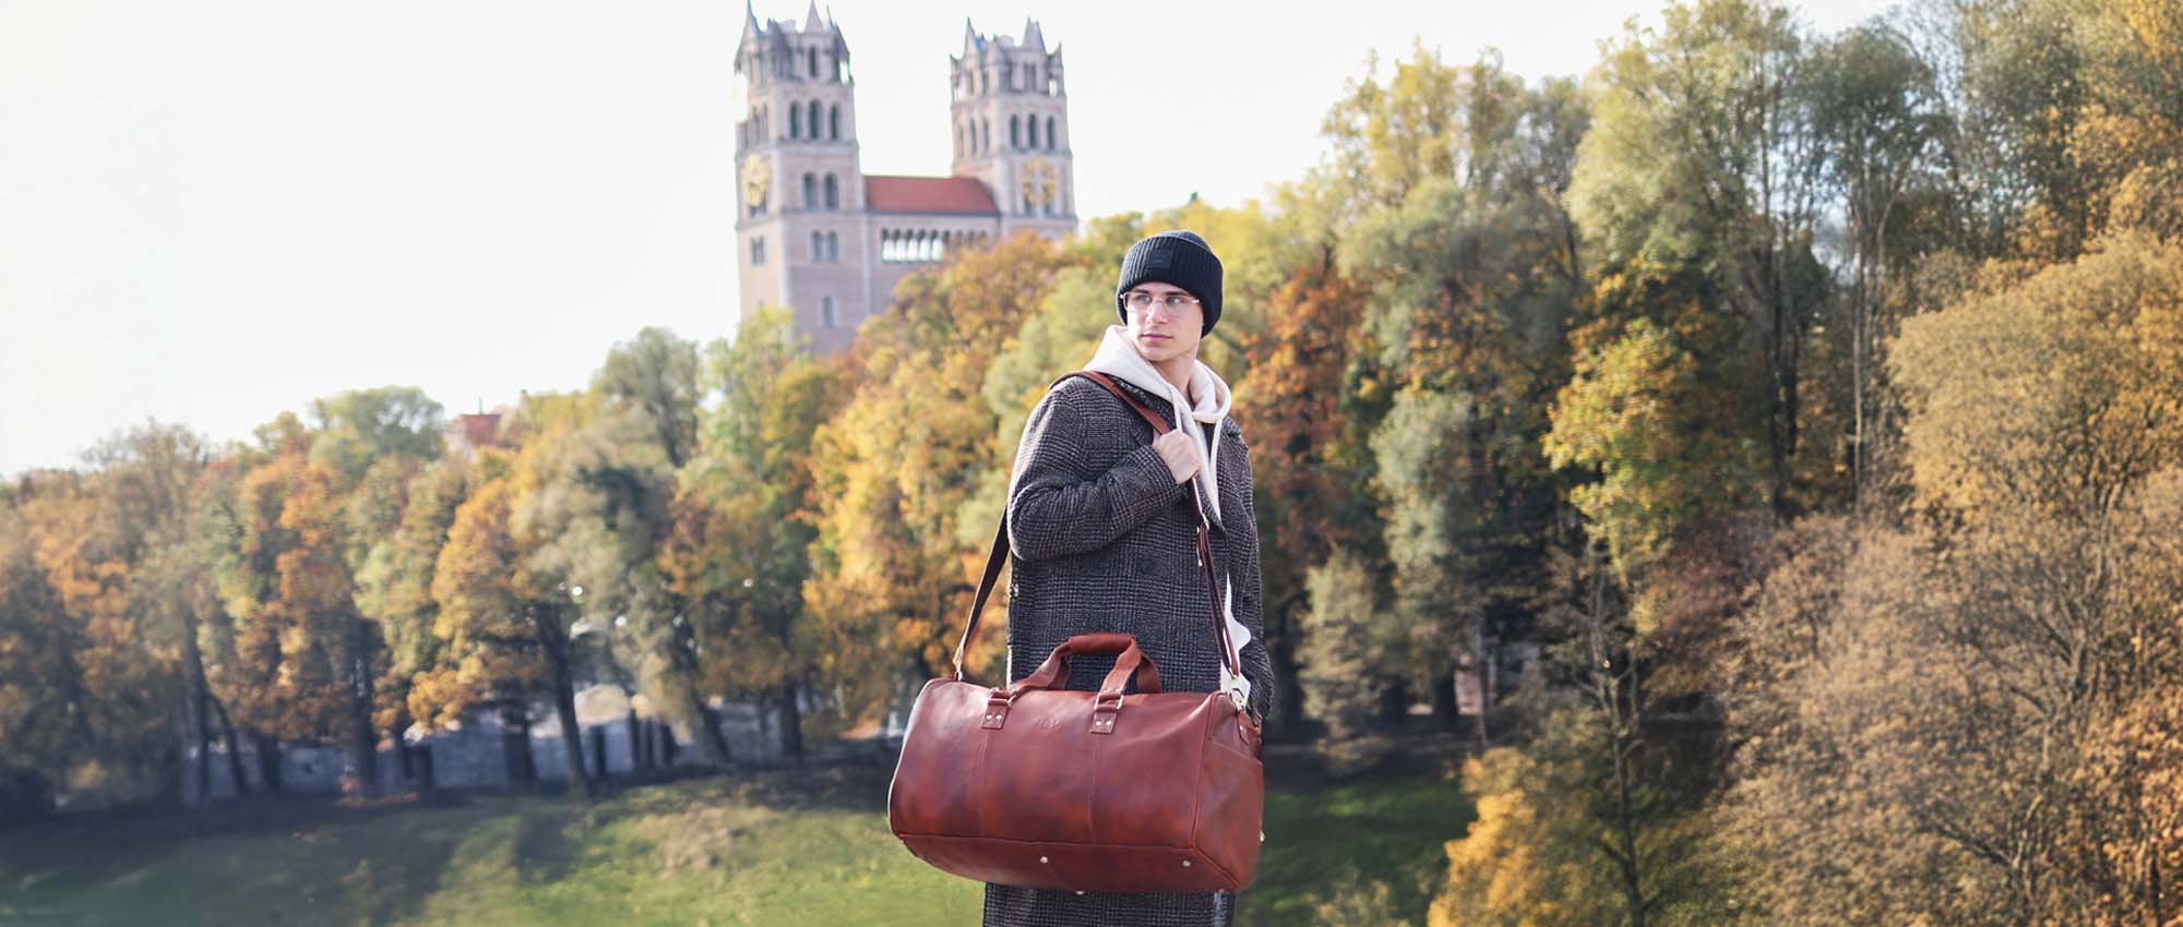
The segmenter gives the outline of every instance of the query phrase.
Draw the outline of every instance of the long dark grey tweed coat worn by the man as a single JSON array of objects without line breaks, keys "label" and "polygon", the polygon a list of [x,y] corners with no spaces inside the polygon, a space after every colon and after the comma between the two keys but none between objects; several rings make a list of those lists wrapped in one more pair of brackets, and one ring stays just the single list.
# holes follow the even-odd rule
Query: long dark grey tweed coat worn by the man
[{"label": "long dark grey tweed coat worn by the man", "polygon": [[[1172,423],[1170,406],[1124,390]],[[1214,425],[1196,425],[1214,428]],[[1260,609],[1251,449],[1220,425],[1220,513],[1214,565],[1233,576],[1251,705],[1273,715],[1273,661]],[[1220,639],[1196,558],[1190,484],[1153,449],[1153,425],[1105,386],[1070,377],[1024,423],[1009,480],[1009,681],[1028,676],[1072,635],[1120,630],[1159,667],[1168,691],[1220,687]],[[1209,513],[1207,513],[1209,515]],[[1070,689],[1096,691],[1111,654],[1076,659]],[[1233,894],[1076,894],[985,888],[985,927],[1222,927]]]}]

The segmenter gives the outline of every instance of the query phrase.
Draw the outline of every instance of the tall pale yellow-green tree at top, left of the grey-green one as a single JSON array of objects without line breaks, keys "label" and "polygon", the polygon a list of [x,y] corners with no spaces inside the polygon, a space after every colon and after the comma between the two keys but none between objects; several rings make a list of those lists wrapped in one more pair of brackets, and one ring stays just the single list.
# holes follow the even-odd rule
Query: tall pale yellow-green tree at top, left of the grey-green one
[{"label": "tall pale yellow-green tree at top, left of the grey-green one", "polygon": [[[1687,312],[1679,305],[1687,294],[1698,312],[1727,316],[1733,340],[1722,347],[1755,347],[1742,373],[1764,395],[1759,491],[1777,513],[1794,510],[1801,353],[1827,294],[1812,257],[1825,161],[1799,94],[1805,65],[1803,37],[1781,7],[1670,7],[1659,33],[1633,26],[1594,74],[1594,124],[1570,183],[1600,288],[1611,288],[1602,310],[1663,323]],[[1633,279],[1690,286],[1624,284]]]}]

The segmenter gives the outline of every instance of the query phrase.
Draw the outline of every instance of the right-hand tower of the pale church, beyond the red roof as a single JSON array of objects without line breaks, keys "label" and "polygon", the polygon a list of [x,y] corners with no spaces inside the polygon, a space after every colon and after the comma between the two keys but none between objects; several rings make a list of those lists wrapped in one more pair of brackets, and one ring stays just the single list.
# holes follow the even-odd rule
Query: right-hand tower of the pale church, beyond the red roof
[{"label": "right-hand tower of the pale church, beyond the red roof", "polygon": [[1000,207],[1000,236],[1076,229],[1076,177],[1070,159],[1070,100],[1061,48],[1046,50],[1035,20],[1022,41],[978,35],[963,20],[963,55],[947,59],[954,105],[956,177],[976,177]]}]

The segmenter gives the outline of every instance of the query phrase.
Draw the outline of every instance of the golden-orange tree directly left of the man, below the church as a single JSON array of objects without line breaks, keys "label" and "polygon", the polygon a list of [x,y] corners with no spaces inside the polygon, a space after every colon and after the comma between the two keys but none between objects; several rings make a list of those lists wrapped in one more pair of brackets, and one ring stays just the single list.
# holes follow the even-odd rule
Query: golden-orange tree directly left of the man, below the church
[{"label": "golden-orange tree directly left of the man, below the church", "polygon": [[978,401],[1006,334],[1054,286],[1063,253],[1017,236],[906,277],[895,308],[858,334],[845,406],[812,436],[812,580],[806,613],[840,722],[906,707],[947,663],[982,550],[963,504],[991,456]]}]

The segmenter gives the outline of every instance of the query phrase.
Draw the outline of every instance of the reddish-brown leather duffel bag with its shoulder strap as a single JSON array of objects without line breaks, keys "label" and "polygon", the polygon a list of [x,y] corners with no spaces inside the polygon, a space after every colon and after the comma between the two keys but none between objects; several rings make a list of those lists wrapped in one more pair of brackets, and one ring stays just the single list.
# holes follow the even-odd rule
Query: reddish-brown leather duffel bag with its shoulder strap
[{"label": "reddish-brown leather duffel bag with its shoulder strap", "polygon": [[[1107,377],[1083,373],[1166,432]],[[1192,480],[1192,486],[1196,480]],[[1257,870],[1266,803],[1260,720],[1240,694],[1161,691],[1131,635],[1076,635],[1015,685],[963,678],[963,652],[1009,558],[1002,519],[956,643],[954,672],[910,709],[886,794],[888,827],[919,859],[1002,886],[1078,892],[1242,890]],[[1220,659],[1240,676],[1222,622],[1207,528]],[[1070,691],[1070,657],[1118,652],[1100,691]],[[1137,691],[1124,694],[1135,678]]]}]

